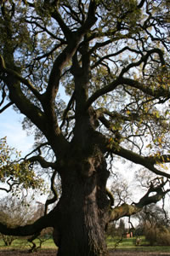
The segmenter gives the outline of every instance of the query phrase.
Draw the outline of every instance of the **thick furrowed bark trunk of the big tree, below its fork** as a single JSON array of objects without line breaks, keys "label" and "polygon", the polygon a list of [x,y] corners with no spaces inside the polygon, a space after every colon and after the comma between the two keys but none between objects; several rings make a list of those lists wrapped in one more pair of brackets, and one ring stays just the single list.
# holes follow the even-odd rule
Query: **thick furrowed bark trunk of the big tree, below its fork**
[{"label": "thick furrowed bark trunk of the big tree, below its fork", "polygon": [[62,181],[62,196],[57,206],[58,220],[54,241],[58,256],[104,256],[105,212],[109,200],[105,159],[99,155],[85,160],[67,161]]}]

